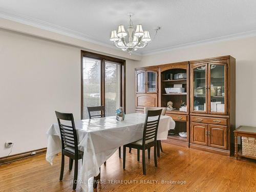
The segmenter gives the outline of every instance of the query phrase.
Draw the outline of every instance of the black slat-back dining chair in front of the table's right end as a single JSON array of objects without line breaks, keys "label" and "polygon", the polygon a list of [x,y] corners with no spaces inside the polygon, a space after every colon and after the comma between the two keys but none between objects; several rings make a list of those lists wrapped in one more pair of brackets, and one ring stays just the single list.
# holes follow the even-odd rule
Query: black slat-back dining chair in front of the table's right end
[{"label": "black slat-back dining chair in front of the table's right end", "polygon": [[[143,174],[146,175],[145,150],[154,146],[154,161],[155,167],[157,167],[157,130],[161,113],[162,109],[154,111],[148,110],[146,113],[142,139],[123,145],[123,169],[125,168],[126,147],[137,149],[138,161],[140,150],[142,150],[142,168]],[[152,118],[154,118],[154,120],[152,120]]]}]

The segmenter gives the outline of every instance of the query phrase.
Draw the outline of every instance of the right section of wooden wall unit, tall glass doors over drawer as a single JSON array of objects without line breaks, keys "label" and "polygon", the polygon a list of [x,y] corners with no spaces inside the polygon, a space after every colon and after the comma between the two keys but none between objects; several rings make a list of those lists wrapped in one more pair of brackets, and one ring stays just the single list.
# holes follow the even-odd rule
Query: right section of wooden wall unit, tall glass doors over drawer
[{"label": "right section of wooden wall unit, tall glass doors over drawer", "polygon": [[236,113],[236,64],[231,56],[189,61],[190,147],[230,155]]}]

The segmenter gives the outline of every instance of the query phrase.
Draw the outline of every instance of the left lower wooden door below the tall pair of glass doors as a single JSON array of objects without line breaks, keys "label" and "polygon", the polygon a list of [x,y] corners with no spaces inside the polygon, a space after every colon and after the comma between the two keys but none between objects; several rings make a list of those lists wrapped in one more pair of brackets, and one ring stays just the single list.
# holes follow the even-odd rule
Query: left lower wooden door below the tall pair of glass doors
[{"label": "left lower wooden door below the tall pair of glass doors", "polygon": [[208,125],[203,123],[191,123],[191,143],[208,145]]}]

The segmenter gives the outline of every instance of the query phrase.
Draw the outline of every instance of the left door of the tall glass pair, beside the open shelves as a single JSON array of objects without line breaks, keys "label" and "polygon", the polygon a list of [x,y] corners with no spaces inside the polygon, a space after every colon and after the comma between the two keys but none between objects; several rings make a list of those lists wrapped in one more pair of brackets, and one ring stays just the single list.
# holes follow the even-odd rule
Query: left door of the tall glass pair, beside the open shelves
[{"label": "left door of the tall glass pair, beside the open shelves", "polygon": [[207,113],[207,65],[193,69],[192,111]]}]

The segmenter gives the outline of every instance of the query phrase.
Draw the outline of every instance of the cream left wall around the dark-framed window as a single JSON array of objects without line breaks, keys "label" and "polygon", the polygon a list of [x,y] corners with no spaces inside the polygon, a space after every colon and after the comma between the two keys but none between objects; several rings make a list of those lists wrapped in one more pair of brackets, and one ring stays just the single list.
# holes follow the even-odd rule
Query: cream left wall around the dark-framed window
[{"label": "cream left wall around the dark-framed window", "polygon": [[[4,29],[0,42],[3,157],[10,152],[6,141],[14,142],[12,154],[46,147],[55,110],[73,112],[80,119],[81,48]],[[135,111],[134,76],[134,61],[126,59],[126,113]]]}]

